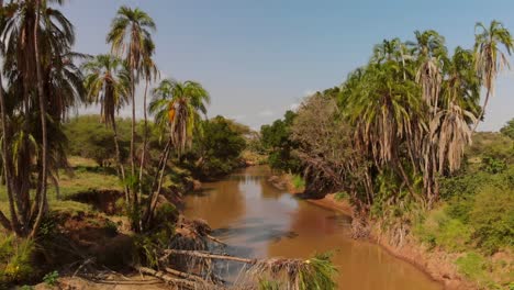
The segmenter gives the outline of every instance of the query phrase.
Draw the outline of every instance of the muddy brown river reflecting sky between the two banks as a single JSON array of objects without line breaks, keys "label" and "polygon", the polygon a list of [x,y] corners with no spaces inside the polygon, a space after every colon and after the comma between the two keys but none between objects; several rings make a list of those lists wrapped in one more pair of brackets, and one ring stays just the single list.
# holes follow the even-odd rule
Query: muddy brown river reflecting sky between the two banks
[{"label": "muddy brown river reflecting sky between the two banks", "polygon": [[348,216],[278,190],[268,182],[270,175],[267,167],[249,167],[204,183],[202,191],[187,196],[186,215],[208,221],[233,255],[306,258],[332,250],[340,289],[443,289],[381,247],[351,239]]}]

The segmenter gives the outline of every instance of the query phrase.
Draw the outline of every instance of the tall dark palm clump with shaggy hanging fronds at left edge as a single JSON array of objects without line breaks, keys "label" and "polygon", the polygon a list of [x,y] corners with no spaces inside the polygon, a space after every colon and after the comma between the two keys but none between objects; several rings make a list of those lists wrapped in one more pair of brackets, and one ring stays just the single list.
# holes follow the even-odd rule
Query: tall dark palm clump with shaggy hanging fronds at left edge
[{"label": "tall dark palm clump with shaggy hanging fronds at left edge", "polygon": [[[12,147],[14,145],[10,145],[12,148],[8,148],[8,152],[10,150],[12,158],[7,157],[4,161],[8,167],[23,168],[18,171],[9,170],[12,179],[9,185],[10,191],[16,204],[14,215],[18,215],[20,221],[19,228],[14,232],[22,235],[36,233],[47,209],[46,179],[52,177],[52,170],[57,169],[49,164],[52,156],[57,156],[57,154],[51,153],[52,146],[47,138],[48,124],[60,122],[60,119],[55,119],[55,116],[64,113],[69,107],[62,105],[58,110],[53,108],[56,109],[53,111],[56,114],[48,114],[47,108],[52,105],[49,101],[57,100],[70,104],[68,98],[75,96],[55,93],[58,89],[54,90],[54,88],[64,89],[66,83],[72,82],[69,77],[80,78],[80,74],[70,70],[67,77],[63,78],[66,75],[64,71],[71,65],[57,65],[55,62],[58,57],[62,62],[62,57],[69,54],[75,42],[75,33],[71,23],[63,13],[48,7],[51,2],[62,3],[59,0],[12,1],[2,9],[8,12],[4,14],[0,40],[3,45],[3,75],[8,80],[8,94],[10,96],[4,118],[5,121],[12,123],[7,125],[3,133],[7,140],[18,136],[16,140],[11,140],[11,143],[18,142],[20,145],[16,150]],[[53,82],[57,79],[62,81]],[[79,87],[68,86],[68,88],[75,90]],[[9,114],[10,118],[8,118]],[[53,119],[52,122],[48,122],[49,118]],[[16,126],[20,123],[23,125]],[[58,126],[53,127],[58,130]],[[37,150],[32,149],[33,144],[37,145]],[[59,146],[55,148],[58,149]],[[33,171],[34,160],[38,177],[36,193],[32,202],[27,180]]]}]

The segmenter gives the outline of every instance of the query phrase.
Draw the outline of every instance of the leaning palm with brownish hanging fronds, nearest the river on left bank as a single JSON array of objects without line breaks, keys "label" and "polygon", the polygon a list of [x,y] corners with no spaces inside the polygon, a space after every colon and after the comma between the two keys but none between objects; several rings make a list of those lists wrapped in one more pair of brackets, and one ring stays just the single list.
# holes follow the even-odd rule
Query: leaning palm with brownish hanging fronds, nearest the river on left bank
[{"label": "leaning palm with brownish hanging fronds, nearest the river on left bank", "polygon": [[[154,100],[149,104],[150,113],[155,114],[155,122],[164,132],[167,131],[168,143],[158,166],[158,180],[149,196],[150,202],[146,211],[145,221],[149,223],[163,188],[164,171],[171,147],[178,155],[191,146],[194,131],[198,129],[201,114],[206,114],[210,102],[209,92],[195,81],[163,80],[154,89]],[[155,186],[156,194],[154,193]]]}]

